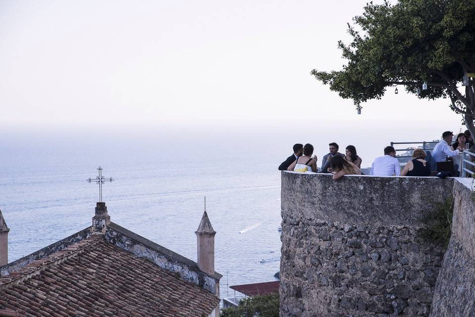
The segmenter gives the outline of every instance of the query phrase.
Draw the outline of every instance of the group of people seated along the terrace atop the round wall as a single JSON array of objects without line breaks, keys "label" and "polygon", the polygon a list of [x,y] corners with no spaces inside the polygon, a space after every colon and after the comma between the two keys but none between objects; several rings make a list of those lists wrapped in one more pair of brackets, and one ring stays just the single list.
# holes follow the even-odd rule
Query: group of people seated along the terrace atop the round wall
[{"label": "group of people seated along the terrace atop the round wall", "polygon": [[[444,162],[457,156],[464,150],[474,146],[474,140],[467,130],[459,133],[452,144],[454,134],[451,131],[442,133],[442,140],[437,143],[432,153],[423,149],[415,149],[412,160],[408,161],[401,170],[399,160],[396,158],[396,150],[391,147],[384,148],[384,156],[376,158],[370,168],[370,175],[374,176],[429,176],[437,170],[439,162]],[[320,172],[332,173],[333,179],[339,179],[343,175],[361,175],[362,159],[357,155],[356,148],[349,145],[345,154],[338,152],[338,144],[329,144],[329,153],[323,157],[322,166],[317,166],[317,156],[313,155],[313,146],[309,143],[295,144],[293,154],[279,166],[279,170],[291,170],[297,172]],[[452,167],[457,169],[457,165]]]}]

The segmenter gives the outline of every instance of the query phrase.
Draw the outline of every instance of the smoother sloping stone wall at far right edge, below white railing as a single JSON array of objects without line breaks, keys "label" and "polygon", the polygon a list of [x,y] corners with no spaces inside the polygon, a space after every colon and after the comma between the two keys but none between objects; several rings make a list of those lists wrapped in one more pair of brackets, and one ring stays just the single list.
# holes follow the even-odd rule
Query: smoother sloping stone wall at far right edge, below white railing
[{"label": "smoother sloping stone wall at far right edge, below white railing", "polygon": [[475,316],[475,200],[472,179],[455,183],[452,236],[437,278],[430,317]]}]

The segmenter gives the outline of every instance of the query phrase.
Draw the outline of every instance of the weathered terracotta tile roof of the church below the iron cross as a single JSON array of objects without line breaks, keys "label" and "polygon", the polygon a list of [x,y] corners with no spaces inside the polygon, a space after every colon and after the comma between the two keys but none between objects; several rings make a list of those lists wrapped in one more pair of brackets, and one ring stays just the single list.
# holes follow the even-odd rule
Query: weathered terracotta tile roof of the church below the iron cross
[{"label": "weathered terracotta tile roof of the church below the iron cross", "polygon": [[208,316],[219,299],[92,236],[0,278],[0,309],[20,316]]}]

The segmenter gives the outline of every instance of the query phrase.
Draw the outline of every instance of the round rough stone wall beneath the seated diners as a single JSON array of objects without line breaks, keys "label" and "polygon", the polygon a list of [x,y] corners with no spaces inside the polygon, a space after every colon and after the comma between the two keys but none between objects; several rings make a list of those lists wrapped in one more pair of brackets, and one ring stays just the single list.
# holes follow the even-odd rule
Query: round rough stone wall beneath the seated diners
[{"label": "round rough stone wall beneath the seated diners", "polygon": [[282,173],[281,317],[428,316],[453,179]]}]

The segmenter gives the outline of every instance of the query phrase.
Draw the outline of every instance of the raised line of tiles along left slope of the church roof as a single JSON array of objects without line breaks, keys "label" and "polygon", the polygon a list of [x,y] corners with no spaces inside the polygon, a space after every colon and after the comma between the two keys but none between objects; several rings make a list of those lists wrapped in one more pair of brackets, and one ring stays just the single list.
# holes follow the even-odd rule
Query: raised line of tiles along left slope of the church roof
[{"label": "raised line of tiles along left slope of the church roof", "polygon": [[17,284],[33,275],[39,274],[42,270],[55,264],[62,263],[75,255],[81,254],[86,248],[91,247],[103,240],[101,235],[92,235],[84,240],[74,243],[58,252],[52,253],[41,260],[35,260],[29,264],[13,270],[8,275],[0,276],[0,290],[9,285]]}]

